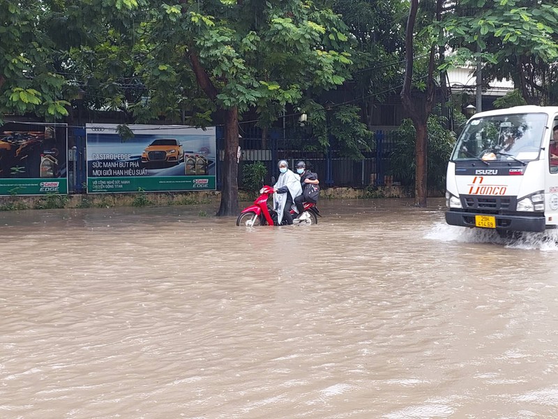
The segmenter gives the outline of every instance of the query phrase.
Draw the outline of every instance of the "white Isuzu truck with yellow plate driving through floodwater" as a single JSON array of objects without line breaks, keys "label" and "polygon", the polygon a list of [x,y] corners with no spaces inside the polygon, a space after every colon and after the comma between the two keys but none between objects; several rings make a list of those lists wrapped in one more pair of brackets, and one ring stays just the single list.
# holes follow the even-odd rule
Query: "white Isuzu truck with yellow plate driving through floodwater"
[{"label": "white Isuzu truck with yellow plate driving through floodwater", "polygon": [[446,222],[504,236],[557,228],[555,126],[558,106],[490,110],[469,119],[448,163]]}]

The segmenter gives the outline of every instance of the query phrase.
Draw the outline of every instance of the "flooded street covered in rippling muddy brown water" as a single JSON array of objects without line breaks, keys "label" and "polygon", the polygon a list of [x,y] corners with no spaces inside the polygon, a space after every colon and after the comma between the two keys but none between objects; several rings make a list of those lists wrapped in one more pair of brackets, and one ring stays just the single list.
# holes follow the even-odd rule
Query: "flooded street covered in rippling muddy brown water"
[{"label": "flooded street covered in rippling muddy brown water", "polygon": [[411,204],[1,212],[0,418],[558,418],[558,235]]}]

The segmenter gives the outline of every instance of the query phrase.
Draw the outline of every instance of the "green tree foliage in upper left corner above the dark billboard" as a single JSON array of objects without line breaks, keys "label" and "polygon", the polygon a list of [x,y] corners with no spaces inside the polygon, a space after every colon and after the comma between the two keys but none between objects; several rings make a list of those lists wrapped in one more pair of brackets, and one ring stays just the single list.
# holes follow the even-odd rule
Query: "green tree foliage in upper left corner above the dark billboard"
[{"label": "green tree foliage in upper left corner above the dark billboard", "polygon": [[[136,17],[132,8],[142,1],[3,0],[0,115],[34,113],[47,121],[68,116],[70,101],[84,84],[84,74],[90,74],[86,66],[79,65],[79,58],[88,55],[95,63],[91,67],[100,68],[98,63],[103,60],[97,52],[103,45],[114,50],[111,35],[115,31],[130,33]],[[107,77],[120,70],[111,68],[103,74]],[[107,97],[116,96],[114,92],[107,91]]]}]

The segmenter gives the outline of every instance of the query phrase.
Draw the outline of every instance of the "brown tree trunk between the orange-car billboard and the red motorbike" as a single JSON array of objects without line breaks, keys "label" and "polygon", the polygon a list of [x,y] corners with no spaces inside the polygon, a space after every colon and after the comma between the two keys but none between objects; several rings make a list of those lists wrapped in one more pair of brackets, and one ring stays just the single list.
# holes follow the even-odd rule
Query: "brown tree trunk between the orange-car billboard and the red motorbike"
[{"label": "brown tree trunk between the orange-car billboard and the red motorbike", "polygon": [[221,205],[217,215],[237,215],[239,213],[239,110],[225,110],[225,157],[223,159],[223,186]]}]

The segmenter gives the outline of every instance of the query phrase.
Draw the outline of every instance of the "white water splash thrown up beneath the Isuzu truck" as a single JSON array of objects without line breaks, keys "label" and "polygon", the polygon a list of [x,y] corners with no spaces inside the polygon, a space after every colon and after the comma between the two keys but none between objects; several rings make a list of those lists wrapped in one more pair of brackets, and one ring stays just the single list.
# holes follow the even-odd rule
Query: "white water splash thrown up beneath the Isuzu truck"
[{"label": "white water splash thrown up beneath the Isuzu truck", "polygon": [[520,233],[516,237],[500,237],[495,230],[463,228],[435,223],[424,236],[426,239],[441,242],[500,244],[510,249],[538,249],[558,251],[558,230],[542,233]]}]

